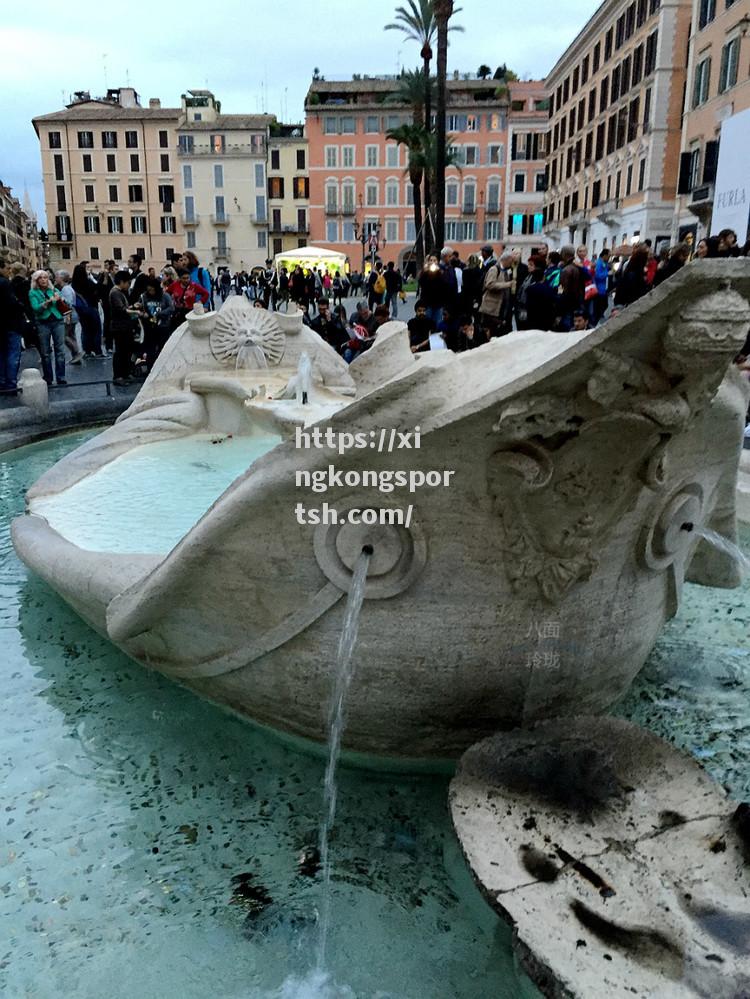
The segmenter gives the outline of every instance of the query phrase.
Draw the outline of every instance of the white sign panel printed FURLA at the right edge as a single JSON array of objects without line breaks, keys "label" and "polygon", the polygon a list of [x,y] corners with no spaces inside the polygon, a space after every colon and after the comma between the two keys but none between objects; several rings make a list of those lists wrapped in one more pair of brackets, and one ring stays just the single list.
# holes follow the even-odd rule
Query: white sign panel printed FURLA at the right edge
[{"label": "white sign panel printed FURLA at the right edge", "polygon": [[721,126],[711,235],[734,229],[742,246],[750,215],[750,109],[727,118]]}]

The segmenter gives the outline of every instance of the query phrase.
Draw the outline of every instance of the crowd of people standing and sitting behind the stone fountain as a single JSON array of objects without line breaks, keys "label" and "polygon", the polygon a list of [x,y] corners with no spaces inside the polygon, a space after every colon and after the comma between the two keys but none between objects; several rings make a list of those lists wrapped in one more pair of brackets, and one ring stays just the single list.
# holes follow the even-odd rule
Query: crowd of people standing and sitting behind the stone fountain
[{"label": "crowd of people standing and sitting behind the stone fountain", "polygon": [[[689,243],[661,249],[651,241],[627,255],[603,249],[589,256],[586,246],[541,244],[528,262],[503,244],[483,246],[466,262],[445,247],[427,258],[417,276],[417,300],[409,320],[413,353],[461,352],[514,330],[566,332],[598,325],[627,308],[692,259],[747,256],[726,229]],[[266,262],[251,273],[221,268],[213,277],[191,251],[175,257],[157,274],[144,272],[137,255],[127,268],[105,260],[95,274],[88,261],[68,270],[37,270],[0,258],[0,391],[17,390],[21,354],[33,349],[44,380],[66,385],[66,365],[112,355],[113,380],[127,385],[153,367],[171,333],[194,309],[212,309],[232,295],[255,307],[299,308],[303,321],[347,362],[374,343],[377,331],[398,317],[406,301],[405,278],[391,261],[375,262],[366,275],[356,271],[296,266],[277,271]],[[362,295],[350,312],[345,300]],[[66,350],[69,358],[66,359]],[[738,359],[747,371],[750,344]]]}]

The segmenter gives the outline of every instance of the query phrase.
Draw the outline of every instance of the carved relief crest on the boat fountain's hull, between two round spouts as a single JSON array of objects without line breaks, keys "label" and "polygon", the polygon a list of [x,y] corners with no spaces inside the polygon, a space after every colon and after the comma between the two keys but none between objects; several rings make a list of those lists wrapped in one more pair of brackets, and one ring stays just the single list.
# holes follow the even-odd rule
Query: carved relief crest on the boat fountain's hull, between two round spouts
[{"label": "carved relief crest on the boat fountain's hull, between two round spouts", "polygon": [[520,397],[502,408],[493,430],[503,443],[487,474],[515,592],[558,604],[591,577],[597,552],[642,491],[665,489],[670,441],[711,403],[749,322],[727,282],[677,312],[656,352],[629,356],[627,340],[622,353],[595,349],[571,396]]}]

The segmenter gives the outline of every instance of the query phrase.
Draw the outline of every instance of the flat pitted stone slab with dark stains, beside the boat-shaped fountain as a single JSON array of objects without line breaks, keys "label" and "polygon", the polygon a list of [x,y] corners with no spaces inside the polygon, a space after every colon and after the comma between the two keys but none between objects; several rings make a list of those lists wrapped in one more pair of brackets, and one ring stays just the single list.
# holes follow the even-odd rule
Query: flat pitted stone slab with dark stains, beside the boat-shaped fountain
[{"label": "flat pitted stone slab with dark stains, beside the boat-shaped fountain", "polygon": [[450,806],[545,996],[750,995],[750,806],[666,742],[607,717],[498,734]]}]

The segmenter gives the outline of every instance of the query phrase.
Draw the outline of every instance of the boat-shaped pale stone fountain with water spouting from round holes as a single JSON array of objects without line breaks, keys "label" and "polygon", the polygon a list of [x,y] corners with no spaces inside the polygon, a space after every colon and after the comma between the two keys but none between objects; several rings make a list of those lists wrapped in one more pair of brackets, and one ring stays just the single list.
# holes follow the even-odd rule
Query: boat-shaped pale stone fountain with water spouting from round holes
[{"label": "boat-shaped pale stone fountain with water spouting from round holes", "polygon": [[[256,412],[244,401],[247,383],[238,388],[225,359],[212,367],[204,353],[199,363],[189,341],[204,334],[188,329],[184,356],[168,346],[134,408],[31,490],[30,515],[14,523],[16,548],[135,659],[313,740],[325,738],[346,594],[364,545],[374,554],[349,749],[453,757],[498,728],[603,712],[676,612],[688,572],[710,585],[738,582],[696,530],[734,535],[746,396],[730,362],[750,322],[748,290],[744,262],[691,265],[592,332],[518,333],[458,356],[414,359],[393,324],[377,345],[387,372],[379,383],[376,355],[366,370],[359,362],[347,370],[324,344],[306,341],[319,398],[330,403],[325,425],[376,435],[419,426],[419,450],[340,458],[287,440],[168,554],[83,552],[34,514],[36,499],[154,435],[221,429],[217,421],[242,433],[243,420],[279,419],[279,406]],[[282,322],[279,378],[294,370],[294,338],[313,336]],[[448,488],[413,494],[369,486],[302,494],[295,472],[329,464],[455,474]],[[299,524],[300,500],[339,512],[412,504],[411,521]]]}]

